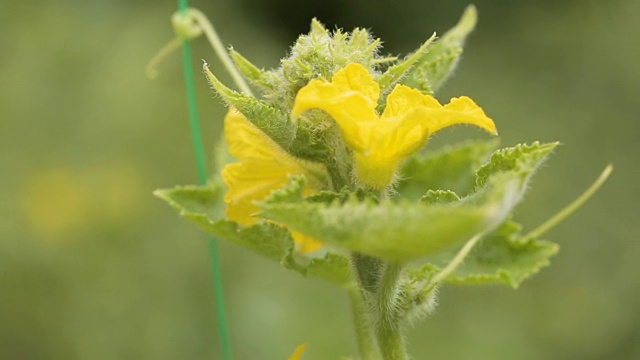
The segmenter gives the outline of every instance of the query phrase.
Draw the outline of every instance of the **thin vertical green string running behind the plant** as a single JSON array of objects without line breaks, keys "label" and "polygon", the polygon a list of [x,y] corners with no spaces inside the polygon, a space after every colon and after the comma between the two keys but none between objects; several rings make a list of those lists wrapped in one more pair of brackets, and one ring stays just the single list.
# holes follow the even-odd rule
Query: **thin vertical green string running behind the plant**
[{"label": "thin vertical green string running behind the plant", "polygon": [[[187,14],[187,0],[178,0],[178,10],[182,15]],[[204,146],[202,145],[202,135],[200,132],[200,121],[198,119],[198,105],[196,102],[195,85],[193,80],[193,70],[191,68],[191,44],[189,40],[182,41],[182,57],[184,62],[185,86],[187,92],[187,105],[189,108],[189,122],[191,124],[191,135],[193,137],[193,147],[198,167],[198,178],[200,184],[207,183],[207,166],[205,161]],[[224,294],[222,289],[222,276],[220,271],[220,261],[218,256],[218,243],[216,239],[209,238],[209,253],[211,257],[211,273],[213,277],[213,291],[216,304],[216,314],[218,318],[218,332],[222,343],[222,358],[231,359],[231,342],[229,340],[229,328],[224,305]]]}]

